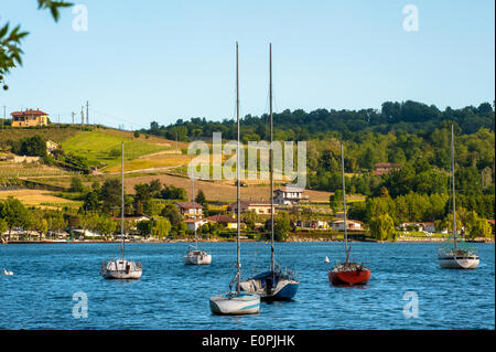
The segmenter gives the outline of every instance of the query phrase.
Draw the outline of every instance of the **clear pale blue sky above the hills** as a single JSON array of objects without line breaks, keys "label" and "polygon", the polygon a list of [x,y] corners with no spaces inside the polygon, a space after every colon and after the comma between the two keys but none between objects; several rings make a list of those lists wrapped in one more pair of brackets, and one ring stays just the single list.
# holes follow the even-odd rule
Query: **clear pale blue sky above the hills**
[{"label": "clear pale blue sky above the hills", "polygon": [[[234,118],[239,43],[241,115],[377,108],[417,100],[460,108],[493,103],[493,0],[86,0],[58,22],[35,0],[1,0],[0,25],[29,31],[23,66],[0,90],[7,115],[40,108],[52,121],[126,129],[151,121]],[[403,13],[417,9],[418,30]],[[407,26],[403,22],[407,21]],[[76,26],[76,29],[80,29]],[[0,114],[3,111],[0,110]],[[0,115],[2,116],[2,115]]]}]

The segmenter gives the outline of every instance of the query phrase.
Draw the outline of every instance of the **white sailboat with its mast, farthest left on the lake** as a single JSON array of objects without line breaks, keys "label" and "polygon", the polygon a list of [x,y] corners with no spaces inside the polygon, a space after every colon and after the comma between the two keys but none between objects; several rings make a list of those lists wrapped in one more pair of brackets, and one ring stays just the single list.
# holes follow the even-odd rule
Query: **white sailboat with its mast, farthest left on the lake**
[{"label": "white sailboat with its mast, farthest left on the lake", "polygon": [[106,279],[139,279],[143,273],[140,262],[127,260],[123,257],[125,248],[125,228],[123,228],[123,213],[125,213],[125,188],[123,188],[123,142],[121,143],[121,206],[120,206],[120,258],[106,262],[100,266],[100,274]]}]

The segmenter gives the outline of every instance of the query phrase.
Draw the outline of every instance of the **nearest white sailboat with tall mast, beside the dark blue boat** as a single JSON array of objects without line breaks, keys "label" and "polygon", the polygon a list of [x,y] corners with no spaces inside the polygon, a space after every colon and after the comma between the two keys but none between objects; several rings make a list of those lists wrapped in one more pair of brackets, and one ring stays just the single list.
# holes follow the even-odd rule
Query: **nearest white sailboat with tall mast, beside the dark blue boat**
[{"label": "nearest white sailboat with tall mast, beside the dark blue boat", "polygon": [[[258,295],[242,292],[240,290],[241,278],[241,252],[240,252],[240,189],[239,189],[239,61],[238,61],[238,43],[236,43],[236,115],[238,120],[238,146],[236,151],[236,172],[237,172],[237,202],[238,202],[238,235],[237,235],[237,260],[236,275],[230,281],[229,292],[211,297],[211,311],[214,314],[255,314],[260,310],[260,297]],[[233,285],[236,284],[235,290]]]}]

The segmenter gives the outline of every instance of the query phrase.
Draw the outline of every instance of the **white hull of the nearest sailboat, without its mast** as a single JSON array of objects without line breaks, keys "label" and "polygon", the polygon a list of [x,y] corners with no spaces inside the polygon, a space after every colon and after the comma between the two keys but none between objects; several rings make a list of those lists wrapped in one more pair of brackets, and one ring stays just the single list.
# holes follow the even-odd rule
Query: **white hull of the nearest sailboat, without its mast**
[{"label": "white hull of the nearest sailboat, without its mast", "polygon": [[211,297],[211,311],[214,314],[241,316],[256,314],[260,310],[260,297],[245,292],[229,292]]}]

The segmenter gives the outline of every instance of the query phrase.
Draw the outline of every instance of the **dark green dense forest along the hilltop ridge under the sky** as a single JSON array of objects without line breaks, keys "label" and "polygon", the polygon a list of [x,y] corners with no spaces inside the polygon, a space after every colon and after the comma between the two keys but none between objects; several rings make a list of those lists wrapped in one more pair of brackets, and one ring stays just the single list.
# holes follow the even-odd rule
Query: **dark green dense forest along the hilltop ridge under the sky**
[{"label": "dark green dense forest along the hilltop ridge under the sky", "polygon": [[[389,131],[403,131],[428,136],[443,121],[453,121],[460,126],[463,134],[474,134],[481,128],[494,130],[494,111],[488,103],[478,108],[468,106],[461,109],[448,107],[444,111],[435,106],[407,100],[405,103],[386,102],[380,110],[327,110],[316,109],[306,113],[302,109],[284,110],[273,114],[274,135],[284,140],[309,140],[337,132],[345,139],[354,139],[357,135],[388,134]],[[241,121],[244,136],[252,135],[254,139],[268,139],[268,116],[260,117],[247,115]],[[179,119],[169,126],[159,126],[157,121],[150,124],[147,131],[152,135],[170,139],[187,140],[188,138],[207,137],[219,131],[228,139],[236,138],[234,119],[223,121],[207,121],[205,118],[192,118],[188,121]],[[348,138],[349,137],[349,138]],[[370,150],[374,151],[374,149]],[[374,153],[364,149],[364,162],[371,163]],[[405,150],[403,150],[405,151]],[[401,160],[401,153],[393,154]],[[408,157],[407,157],[408,158]]]}]

